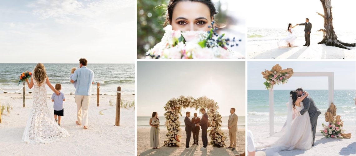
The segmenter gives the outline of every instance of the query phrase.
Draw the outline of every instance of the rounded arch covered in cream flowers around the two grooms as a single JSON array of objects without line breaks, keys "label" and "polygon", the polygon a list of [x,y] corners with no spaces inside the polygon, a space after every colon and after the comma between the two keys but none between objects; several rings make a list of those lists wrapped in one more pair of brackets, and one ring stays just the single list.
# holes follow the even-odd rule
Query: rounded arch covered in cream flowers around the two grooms
[{"label": "rounded arch covered in cream flowers around the two grooms", "polygon": [[195,108],[195,110],[200,110],[201,108],[206,109],[206,113],[209,115],[208,120],[208,130],[209,136],[211,138],[210,144],[215,147],[224,147],[226,136],[221,128],[221,115],[217,111],[219,109],[218,103],[213,99],[209,99],[205,96],[199,97],[197,99],[189,96],[180,96],[179,98],[170,99],[164,106],[164,116],[166,117],[166,127],[167,127],[167,139],[164,141],[164,146],[167,147],[179,147],[180,146],[180,121],[179,115],[182,116],[182,111],[184,108]]}]

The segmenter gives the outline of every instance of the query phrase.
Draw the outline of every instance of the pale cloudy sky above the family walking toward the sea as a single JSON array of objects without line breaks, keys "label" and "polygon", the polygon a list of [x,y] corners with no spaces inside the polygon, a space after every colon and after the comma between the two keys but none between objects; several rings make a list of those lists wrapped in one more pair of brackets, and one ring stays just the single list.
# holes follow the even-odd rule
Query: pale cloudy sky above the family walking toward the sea
[{"label": "pale cloudy sky above the family walking toward the sea", "polygon": [[134,63],[135,8],[133,0],[2,0],[0,63]]}]

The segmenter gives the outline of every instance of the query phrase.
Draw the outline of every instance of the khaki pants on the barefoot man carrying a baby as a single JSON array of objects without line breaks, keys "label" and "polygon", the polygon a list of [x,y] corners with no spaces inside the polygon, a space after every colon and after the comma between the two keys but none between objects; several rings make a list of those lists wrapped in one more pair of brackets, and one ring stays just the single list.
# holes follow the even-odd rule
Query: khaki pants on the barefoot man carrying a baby
[{"label": "khaki pants on the barefoot man carrying a baby", "polygon": [[88,108],[89,108],[90,96],[75,95],[74,99],[75,99],[75,103],[77,103],[78,123],[83,126],[88,126]]}]

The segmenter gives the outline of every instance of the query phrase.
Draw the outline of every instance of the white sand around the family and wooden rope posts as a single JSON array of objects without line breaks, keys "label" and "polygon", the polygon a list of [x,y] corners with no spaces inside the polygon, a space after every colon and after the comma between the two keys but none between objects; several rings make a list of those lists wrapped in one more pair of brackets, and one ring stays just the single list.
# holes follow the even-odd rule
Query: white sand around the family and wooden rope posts
[{"label": "white sand around the family and wooden rope posts", "polygon": [[[100,107],[96,106],[96,95],[91,96],[89,105],[89,128],[76,125],[77,105],[74,95],[65,95],[64,116],[61,127],[69,137],[63,140],[32,145],[21,142],[28,115],[32,108],[32,95],[26,93],[26,107],[22,107],[22,94],[1,93],[1,104],[10,103],[13,110],[1,115],[0,155],[134,155],[135,149],[135,111],[120,109],[120,126],[115,126],[116,96],[100,95]],[[51,95],[47,95],[47,105],[53,114]],[[109,106],[109,100],[114,106]],[[133,101],[135,95],[121,95],[121,99]],[[103,115],[99,112],[102,111]],[[54,120],[54,119],[53,119]]]}]

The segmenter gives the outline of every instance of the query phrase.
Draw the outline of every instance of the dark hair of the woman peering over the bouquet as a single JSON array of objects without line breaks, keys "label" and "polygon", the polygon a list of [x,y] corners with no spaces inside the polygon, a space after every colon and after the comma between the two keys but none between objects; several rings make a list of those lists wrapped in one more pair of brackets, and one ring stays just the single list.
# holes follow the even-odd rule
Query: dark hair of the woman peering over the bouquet
[{"label": "dark hair of the woman peering over the bouquet", "polygon": [[170,0],[168,5],[167,5],[167,14],[166,14],[166,21],[164,22],[164,26],[166,26],[168,23],[172,23],[172,15],[173,15],[173,10],[174,7],[182,1],[191,1],[191,2],[201,2],[205,4],[206,6],[209,7],[210,10],[210,17],[214,18],[215,14],[218,14],[218,11],[216,11],[214,7],[214,3],[211,2],[211,0]]}]

